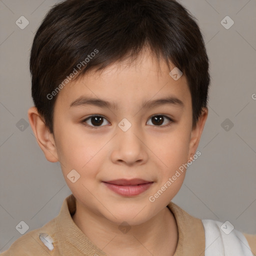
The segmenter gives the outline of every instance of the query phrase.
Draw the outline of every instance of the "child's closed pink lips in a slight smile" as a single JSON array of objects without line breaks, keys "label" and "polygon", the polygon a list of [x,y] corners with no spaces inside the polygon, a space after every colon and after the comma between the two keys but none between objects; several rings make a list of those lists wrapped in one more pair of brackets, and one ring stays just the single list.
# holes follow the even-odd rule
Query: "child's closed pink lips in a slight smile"
[{"label": "child's closed pink lips in a slight smile", "polygon": [[134,196],[144,192],[153,181],[140,178],[133,179],[115,179],[103,181],[103,183],[112,191],[123,196]]}]

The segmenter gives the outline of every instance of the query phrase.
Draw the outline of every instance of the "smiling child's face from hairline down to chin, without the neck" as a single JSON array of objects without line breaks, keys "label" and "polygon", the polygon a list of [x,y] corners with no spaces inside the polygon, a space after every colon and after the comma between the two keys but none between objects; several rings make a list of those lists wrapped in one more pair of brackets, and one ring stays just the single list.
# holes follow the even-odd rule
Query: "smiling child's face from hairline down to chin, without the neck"
[{"label": "smiling child's face from hairline down to chin, without the neck", "polygon": [[[175,81],[164,62],[160,67],[158,72],[156,62],[144,55],[141,62],[130,66],[111,65],[100,75],[89,72],[58,93],[53,118],[56,151],[52,154],[60,161],[67,185],[86,212],[115,223],[125,220],[139,224],[162,210],[179,190],[185,171],[179,171],[181,174],[167,188],[166,182],[195,153],[203,127],[192,130],[191,96],[185,77]],[[115,102],[117,108],[103,104],[70,106],[82,96]],[[145,101],[170,97],[183,105],[148,104],[141,108]],[[91,115],[102,119],[83,121]],[[158,119],[152,118],[154,115]],[[75,182],[67,177],[72,169],[80,175]],[[129,196],[103,182],[132,178],[152,183]],[[164,184],[165,191],[154,196]]]}]

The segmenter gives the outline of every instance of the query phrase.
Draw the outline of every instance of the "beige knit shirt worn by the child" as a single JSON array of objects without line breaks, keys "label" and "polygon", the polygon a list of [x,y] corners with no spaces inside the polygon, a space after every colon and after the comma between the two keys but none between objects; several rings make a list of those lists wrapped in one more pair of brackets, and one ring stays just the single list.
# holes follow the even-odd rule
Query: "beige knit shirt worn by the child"
[{"label": "beige knit shirt worn by the child", "polygon": [[[195,218],[175,203],[167,207],[173,213],[178,227],[178,243],[174,256],[203,256],[205,250],[204,228],[200,219]],[[67,196],[59,214],[38,229],[31,230],[17,240],[1,256],[106,256],[87,236],[77,227],[71,215],[75,212],[73,194]],[[49,250],[39,239],[39,233],[48,233],[53,239],[53,250]],[[256,255],[256,235],[244,234]]]}]

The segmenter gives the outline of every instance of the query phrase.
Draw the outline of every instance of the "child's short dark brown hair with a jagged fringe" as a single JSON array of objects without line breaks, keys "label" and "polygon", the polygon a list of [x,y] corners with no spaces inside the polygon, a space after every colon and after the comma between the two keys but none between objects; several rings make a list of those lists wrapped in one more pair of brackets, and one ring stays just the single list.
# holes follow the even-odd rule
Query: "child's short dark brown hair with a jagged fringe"
[{"label": "child's short dark brown hair with a jagged fringe", "polygon": [[185,75],[194,127],[207,107],[210,75],[202,34],[185,7],[174,0],[66,0],[48,11],[30,54],[32,98],[49,131],[56,89],[70,73],[77,79],[124,57],[133,61],[144,47]]}]

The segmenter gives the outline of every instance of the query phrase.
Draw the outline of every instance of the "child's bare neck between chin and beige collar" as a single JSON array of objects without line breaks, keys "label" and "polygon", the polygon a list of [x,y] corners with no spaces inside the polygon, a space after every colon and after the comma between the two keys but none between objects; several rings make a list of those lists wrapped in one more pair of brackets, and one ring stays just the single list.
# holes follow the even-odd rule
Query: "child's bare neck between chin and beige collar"
[{"label": "child's bare neck between chin and beige collar", "polygon": [[171,211],[164,207],[148,221],[133,225],[123,233],[118,225],[87,211],[76,200],[74,223],[103,252],[111,256],[173,255],[177,246],[177,224]]}]

